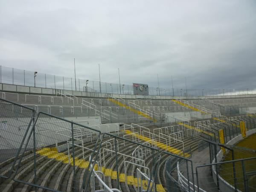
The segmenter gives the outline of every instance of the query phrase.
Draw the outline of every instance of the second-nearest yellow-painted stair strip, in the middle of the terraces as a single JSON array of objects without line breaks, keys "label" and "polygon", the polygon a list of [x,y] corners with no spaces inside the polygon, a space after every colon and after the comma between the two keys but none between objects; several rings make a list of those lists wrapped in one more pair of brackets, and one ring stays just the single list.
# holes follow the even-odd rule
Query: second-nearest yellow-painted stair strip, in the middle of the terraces
[{"label": "second-nearest yellow-painted stair strip, in the middle of the terraces", "polygon": [[[126,134],[132,134],[132,132],[129,131],[129,130],[125,130],[125,133],[126,133]],[[179,150],[179,149],[177,149],[177,148],[171,147],[171,146],[169,146],[169,145],[166,145],[166,144],[161,143],[161,142],[158,142],[158,141],[155,142],[154,140],[151,140],[150,138],[145,137],[145,136],[143,136],[143,135],[141,135],[141,134],[135,134],[135,133],[134,133],[134,136],[136,136],[136,137],[139,138],[140,140],[146,141],[146,142],[148,142],[148,143],[156,144],[157,147],[163,148],[163,149],[165,149],[165,150],[167,150],[167,151],[169,151],[169,152],[171,152],[171,153],[174,153],[174,154],[178,154],[178,155],[180,155],[180,156],[183,156],[183,151],[181,151],[181,150]],[[190,154],[185,153],[185,157],[190,157]]]}]

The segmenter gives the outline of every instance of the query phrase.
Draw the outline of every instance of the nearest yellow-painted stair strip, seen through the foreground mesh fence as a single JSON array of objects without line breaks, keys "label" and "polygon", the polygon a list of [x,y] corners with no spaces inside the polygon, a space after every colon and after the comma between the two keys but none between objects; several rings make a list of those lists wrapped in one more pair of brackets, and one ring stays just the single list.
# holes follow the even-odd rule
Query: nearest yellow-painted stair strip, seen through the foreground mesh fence
[{"label": "nearest yellow-painted stair strip, seen through the foreground mesh fence", "polygon": [[[57,161],[62,161],[63,163],[68,164],[68,155],[64,154],[64,153],[59,153],[57,151],[57,148],[42,148],[38,151],[36,151],[37,154],[43,155],[43,156],[47,156],[50,159],[55,159]],[[77,157],[75,157],[75,165],[86,169],[89,166],[89,162],[85,161],[83,159],[78,159]],[[70,166],[73,166],[73,157],[70,155]],[[95,165],[94,166],[94,170],[98,170],[98,166]],[[105,167],[102,167],[102,172],[104,173],[104,175],[106,177],[111,177],[111,179],[116,179],[117,174],[116,171],[113,171],[112,169],[107,169]],[[132,175],[125,175],[124,173],[119,173],[119,182],[125,182],[125,178],[127,179],[127,183],[134,185],[134,186],[138,186],[137,183],[137,177],[134,177]],[[143,188],[147,189],[147,180],[140,180],[139,179],[139,183],[143,183]],[[152,184],[152,183],[151,183]],[[157,184],[157,192],[166,192],[166,190],[164,189],[162,184]]]}]

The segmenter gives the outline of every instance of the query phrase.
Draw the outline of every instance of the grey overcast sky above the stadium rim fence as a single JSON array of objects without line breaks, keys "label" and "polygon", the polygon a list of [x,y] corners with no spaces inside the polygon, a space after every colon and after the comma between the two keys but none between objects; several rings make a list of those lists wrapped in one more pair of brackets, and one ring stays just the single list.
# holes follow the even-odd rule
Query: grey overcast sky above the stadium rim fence
[{"label": "grey overcast sky above the stadium rim fence", "polygon": [[256,0],[2,0],[0,65],[160,87],[255,88]]}]

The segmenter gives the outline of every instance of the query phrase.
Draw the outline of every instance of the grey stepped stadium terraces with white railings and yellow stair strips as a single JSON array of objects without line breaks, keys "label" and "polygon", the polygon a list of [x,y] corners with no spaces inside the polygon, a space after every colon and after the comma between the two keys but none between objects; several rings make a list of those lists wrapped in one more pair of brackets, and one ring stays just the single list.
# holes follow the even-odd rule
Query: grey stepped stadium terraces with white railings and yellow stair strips
[{"label": "grey stepped stadium terraces with white railings and yellow stair strips", "polygon": [[[0,189],[4,192],[180,190],[194,180],[190,158],[207,147],[202,139],[219,142],[219,131],[224,130],[227,142],[241,133],[240,122],[247,130],[256,128],[255,114],[212,112],[209,119],[169,122],[157,116],[160,113],[145,110],[145,106],[175,106],[174,101],[15,93],[5,93],[5,98],[12,102],[0,99]],[[189,111],[198,104],[183,107],[188,105]],[[62,113],[53,106],[62,107]],[[102,120],[107,114],[103,108],[108,108],[109,116],[119,116],[119,123],[122,113],[123,118],[127,113],[140,118],[127,118],[118,131],[103,133],[62,118],[63,114],[77,116],[76,107],[81,116],[98,115]],[[66,109],[70,113],[64,113]],[[177,172],[177,162],[186,170],[184,178]]]}]

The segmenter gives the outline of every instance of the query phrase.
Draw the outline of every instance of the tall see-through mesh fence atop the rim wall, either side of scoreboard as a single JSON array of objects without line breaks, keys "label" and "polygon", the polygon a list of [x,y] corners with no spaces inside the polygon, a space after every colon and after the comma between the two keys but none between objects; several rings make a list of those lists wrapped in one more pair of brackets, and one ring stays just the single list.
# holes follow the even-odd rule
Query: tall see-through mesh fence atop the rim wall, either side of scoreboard
[{"label": "tall see-through mesh fence atop the rim wall, either side of scoreboard", "polygon": [[[63,90],[77,90],[84,92],[133,94],[133,85],[115,84],[92,81],[88,79],[75,79],[64,76],[36,73],[0,66],[0,83],[24,85],[30,87],[43,87]],[[252,94],[249,89],[185,89],[184,87],[149,87],[152,96],[207,96],[207,95],[236,95]]]}]

